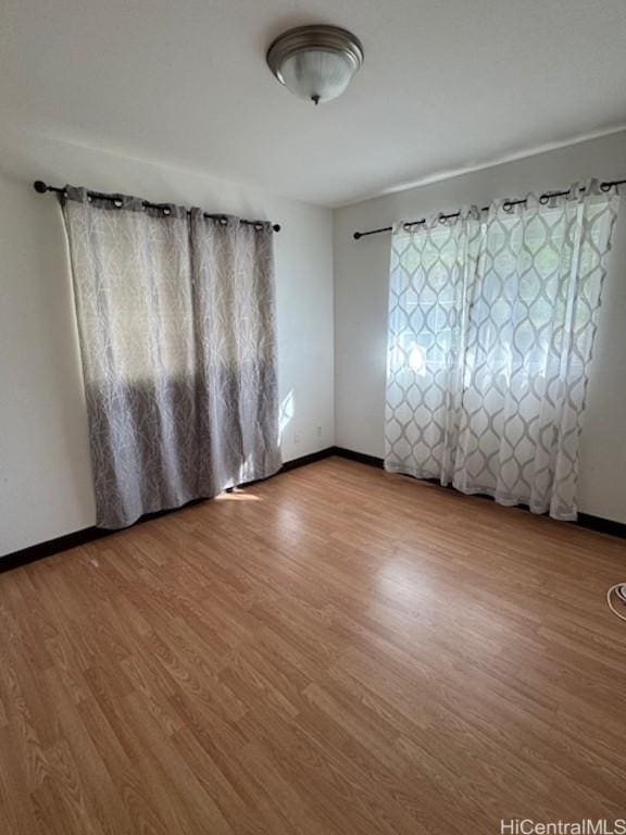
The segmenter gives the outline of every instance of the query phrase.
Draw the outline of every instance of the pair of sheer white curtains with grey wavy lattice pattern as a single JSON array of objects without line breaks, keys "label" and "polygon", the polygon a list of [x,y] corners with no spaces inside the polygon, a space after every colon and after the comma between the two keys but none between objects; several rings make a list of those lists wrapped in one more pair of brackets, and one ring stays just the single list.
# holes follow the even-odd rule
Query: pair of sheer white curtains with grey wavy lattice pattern
[{"label": "pair of sheer white curtains with grey wavy lattice pattern", "polygon": [[575,520],[578,438],[619,199],[472,208],[393,230],[385,466]]}]

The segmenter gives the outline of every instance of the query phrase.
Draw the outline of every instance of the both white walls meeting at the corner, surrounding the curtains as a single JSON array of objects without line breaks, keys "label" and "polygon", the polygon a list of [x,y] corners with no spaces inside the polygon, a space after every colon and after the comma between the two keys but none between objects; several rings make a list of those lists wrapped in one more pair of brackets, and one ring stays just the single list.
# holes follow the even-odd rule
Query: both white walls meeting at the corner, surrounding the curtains
[{"label": "both white walls meeting at the corner, surrounding the curtains", "polygon": [[[383,454],[389,237],[354,241],[355,229],[463,203],[484,204],[493,197],[559,187],[591,175],[626,176],[626,134],[346,207],[335,211],[333,228],[327,209],[199,172],[4,130],[0,134],[0,554],[95,521],[63,225],[55,199],[36,195],[34,179],[66,180],[283,224],[275,244],[280,394],[283,399],[291,395],[293,403],[283,441],[284,458],[289,460],[333,443]],[[626,207],[605,285],[580,473],[580,509],[621,522],[626,522],[625,324]]]}]

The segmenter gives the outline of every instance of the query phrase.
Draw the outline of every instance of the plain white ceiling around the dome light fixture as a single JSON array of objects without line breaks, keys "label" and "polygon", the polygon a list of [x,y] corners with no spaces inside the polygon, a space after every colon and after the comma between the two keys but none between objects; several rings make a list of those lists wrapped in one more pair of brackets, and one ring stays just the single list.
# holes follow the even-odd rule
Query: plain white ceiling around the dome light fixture
[{"label": "plain white ceiling around the dome light fixture", "polygon": [[[320,22],[365,63],[315,109],[264,55]],[[2,0],[3,120],[338,205],[624,126],[626,1]]]}]

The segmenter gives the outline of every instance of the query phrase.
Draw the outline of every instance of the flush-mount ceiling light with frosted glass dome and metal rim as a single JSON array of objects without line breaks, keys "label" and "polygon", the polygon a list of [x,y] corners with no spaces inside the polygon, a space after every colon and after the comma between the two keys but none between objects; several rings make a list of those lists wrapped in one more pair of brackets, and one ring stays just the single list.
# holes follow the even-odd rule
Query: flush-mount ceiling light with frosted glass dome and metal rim
[{"label": "flush-mount ceiling light with frosted glass dome and metal rim", "polygon": [[361,41],[337,26],[298,26],[267,50],[267,64],[280,84],[314,104],[340,96],[362,63]]}]

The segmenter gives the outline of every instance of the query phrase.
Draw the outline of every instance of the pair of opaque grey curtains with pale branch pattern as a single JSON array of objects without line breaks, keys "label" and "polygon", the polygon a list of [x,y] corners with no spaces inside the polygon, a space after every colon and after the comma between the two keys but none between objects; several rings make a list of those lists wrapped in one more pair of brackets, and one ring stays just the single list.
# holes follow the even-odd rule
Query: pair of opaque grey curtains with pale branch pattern
[{"label": "pair of opaque grey curtains with pale branch pattern", "polygon": [[280,468],[272,227],[61,196],[97,524]]}]

